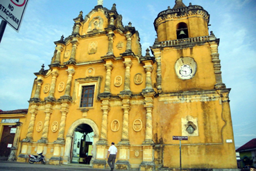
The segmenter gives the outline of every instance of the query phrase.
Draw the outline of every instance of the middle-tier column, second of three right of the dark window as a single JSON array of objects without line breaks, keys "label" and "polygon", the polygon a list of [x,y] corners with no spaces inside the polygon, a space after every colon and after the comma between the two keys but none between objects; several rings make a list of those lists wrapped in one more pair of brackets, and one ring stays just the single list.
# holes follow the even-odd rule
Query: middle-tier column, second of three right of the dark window
[{"label": "middle-tier column, second of three right of the dark window", "polygon": [[124,86],[123,91],[121,93],[131,93],[130,91],[130,68],[133,66],[133,62],[130,58],[126,58],[123,62],[124,66],[126,67],[126,73],[124,78]]}]

